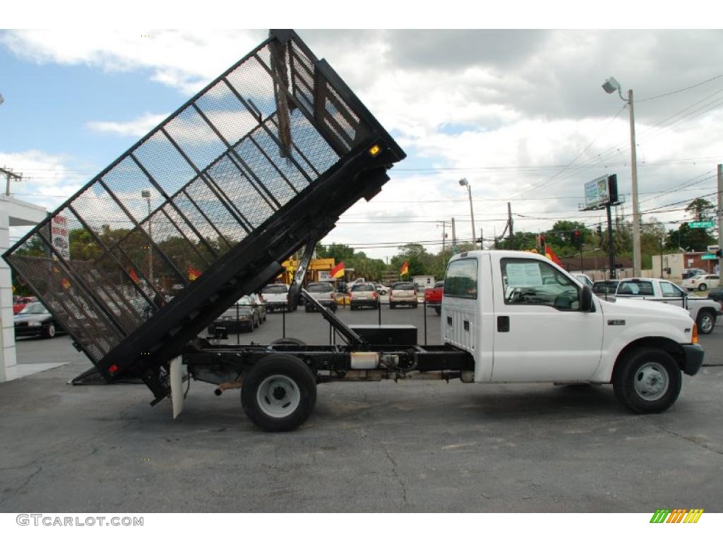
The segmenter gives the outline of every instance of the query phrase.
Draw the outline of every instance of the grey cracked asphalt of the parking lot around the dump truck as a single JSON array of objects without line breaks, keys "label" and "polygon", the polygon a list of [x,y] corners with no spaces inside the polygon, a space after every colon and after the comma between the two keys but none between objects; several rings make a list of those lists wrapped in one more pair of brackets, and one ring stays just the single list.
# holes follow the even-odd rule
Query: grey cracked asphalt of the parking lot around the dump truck
[{"label": "grey cracked asphalt of the parking lot around the dump truck", "polygon": [[[422,306],[382,307],[382,323],[415,324],[421,343],[423,321]],[[439,317],[427,321],[436,343]],[[239,342],[281,337],[281,322],[270,314]],[[296,311],[286,335],[328,343],[329,329]],[[285,434],[253,426],[237,390],[193,382],[174,420],[142,385],[68,385],[90,367],[70,343],[19,340],[20,364],[66,364],[0,384],[0,512],[723,509],[723,326],[659,415],[626,412],[609,386],[349,382],[320,386],[315,413]]]}]

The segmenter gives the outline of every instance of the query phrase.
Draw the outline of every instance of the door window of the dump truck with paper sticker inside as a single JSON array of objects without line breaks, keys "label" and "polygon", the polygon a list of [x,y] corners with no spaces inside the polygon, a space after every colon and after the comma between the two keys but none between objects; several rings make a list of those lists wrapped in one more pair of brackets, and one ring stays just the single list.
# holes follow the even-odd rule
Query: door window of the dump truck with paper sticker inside
[{"label": "door window of the dump truck with paper sticker inside", "polygon": [[580,309],[578,284],[552,265],[529,259],[502,259],[502,286],[507,305],[544,305]]}]

